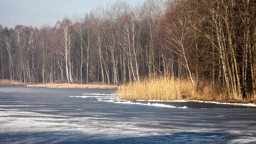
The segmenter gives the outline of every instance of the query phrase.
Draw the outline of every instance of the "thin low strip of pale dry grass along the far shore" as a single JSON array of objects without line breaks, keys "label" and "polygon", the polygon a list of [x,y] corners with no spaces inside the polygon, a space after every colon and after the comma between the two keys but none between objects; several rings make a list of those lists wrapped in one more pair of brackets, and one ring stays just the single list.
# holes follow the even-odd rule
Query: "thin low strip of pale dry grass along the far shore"
[{"label": "thin low strip of pale dry grass along the far shore", "polygon": [[74,88],[74,89],[116,89],[117,86],[104,84],[74,84],[74,83],[40,83],[27,85],[30,87],[50,87],[50,88]]}]

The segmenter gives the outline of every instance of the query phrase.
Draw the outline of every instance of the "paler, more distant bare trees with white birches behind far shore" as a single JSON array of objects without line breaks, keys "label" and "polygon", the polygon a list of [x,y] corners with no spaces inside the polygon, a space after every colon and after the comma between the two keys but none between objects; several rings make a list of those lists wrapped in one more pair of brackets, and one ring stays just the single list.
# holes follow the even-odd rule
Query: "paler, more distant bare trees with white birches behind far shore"
[{"label": "paler, more distant bare trees with white birches behind far shore", "polygon": [[153,69],[155,26],[166,2],[116,2],[54,27],[1,26],[2,79],[24,83],[127,83]]}]

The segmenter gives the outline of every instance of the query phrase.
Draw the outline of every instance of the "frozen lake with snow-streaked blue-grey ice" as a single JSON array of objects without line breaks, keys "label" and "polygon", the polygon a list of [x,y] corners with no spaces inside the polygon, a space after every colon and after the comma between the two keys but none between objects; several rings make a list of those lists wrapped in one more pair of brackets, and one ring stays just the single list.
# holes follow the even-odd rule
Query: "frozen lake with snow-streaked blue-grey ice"
[{"label": "frozen lake with snow-streaked blue-grey ice", "polygon": [[256,143],[254,107],[0,85],[0,143]]}]

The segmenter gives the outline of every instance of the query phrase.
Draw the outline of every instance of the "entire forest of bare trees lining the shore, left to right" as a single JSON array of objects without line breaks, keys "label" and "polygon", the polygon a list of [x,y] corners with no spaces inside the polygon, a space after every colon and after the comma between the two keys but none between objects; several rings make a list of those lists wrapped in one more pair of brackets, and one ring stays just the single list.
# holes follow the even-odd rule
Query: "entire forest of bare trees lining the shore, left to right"
[{"label": "entire forest of bare trees lining the shore, left to right", "polygon": [[0,25],[0,55],[0,79],[121,85],[167,76],[250,100],[256,1],[118,1],[55,26]]}]

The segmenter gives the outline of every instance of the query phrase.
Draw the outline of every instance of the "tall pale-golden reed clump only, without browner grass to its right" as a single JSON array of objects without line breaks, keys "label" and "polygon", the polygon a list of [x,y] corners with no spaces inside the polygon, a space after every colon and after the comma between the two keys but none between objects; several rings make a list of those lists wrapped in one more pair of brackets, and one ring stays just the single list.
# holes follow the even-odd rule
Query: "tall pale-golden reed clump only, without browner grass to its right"
[{"label": "tall pale-golden reed clump only, without browner grass to its right", "polygon": [[183,95],[190,95],[187,91],[194,91],[187,81],[162,77],[119,86],[117,93],[128,100],[180,100]]}]

